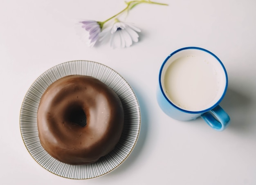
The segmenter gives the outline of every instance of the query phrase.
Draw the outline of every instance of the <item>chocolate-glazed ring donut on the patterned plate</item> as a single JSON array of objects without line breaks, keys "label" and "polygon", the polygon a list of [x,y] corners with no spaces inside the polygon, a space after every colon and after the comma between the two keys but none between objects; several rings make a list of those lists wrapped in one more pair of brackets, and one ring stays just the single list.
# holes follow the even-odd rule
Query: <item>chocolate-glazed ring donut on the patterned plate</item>
[{"label": "chocolate-glazed ring donut on the patterned plate", "polygon": [[117,145],[124,128],[118,95],[94,77],[70,75],[51,84],[41,97],[40,143],[63,163],[94,163]]}]

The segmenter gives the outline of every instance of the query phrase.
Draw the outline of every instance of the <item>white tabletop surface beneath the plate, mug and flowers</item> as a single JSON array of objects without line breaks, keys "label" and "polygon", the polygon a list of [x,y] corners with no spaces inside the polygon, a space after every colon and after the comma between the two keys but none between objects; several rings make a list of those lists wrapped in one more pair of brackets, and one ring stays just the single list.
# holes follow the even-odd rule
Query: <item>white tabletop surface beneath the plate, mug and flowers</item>
[{"label": "white tabletop surface beneath the plate, mug and flowers", "polygon": [[[1,1],[1,184],[256,184],[256,1],[161,2],[169,6],[135,7],[126,21],[141,29],[140,41],[112,49],[87,48],[74,27],[81,18],[105,20],[125,7],[123,0]],[[223,132],[202,119],[175,121],[157,105],[159,68],[184,46],[208,49],[227,69],[229,88],[221,106],[231,123]],[[116,70],[141,106],[141,133],[132,154],[113,172],[90,180],[62,178],[38,165],[19,128],[20,106],[33,81],[52,66],[77,59]]]}]

